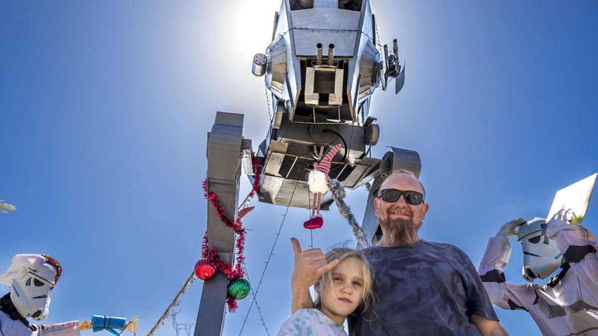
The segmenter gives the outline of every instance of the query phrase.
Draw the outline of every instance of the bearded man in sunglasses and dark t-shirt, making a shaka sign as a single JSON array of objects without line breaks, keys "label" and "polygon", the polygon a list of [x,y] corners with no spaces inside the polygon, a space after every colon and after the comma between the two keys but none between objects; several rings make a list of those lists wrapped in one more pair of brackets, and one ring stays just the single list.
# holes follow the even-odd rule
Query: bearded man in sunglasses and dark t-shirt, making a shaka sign
[{"label": "bearded man in sunglasses and dark t-shirt, making a shaka sign", "polygon": [[[373,311],[355,311],[350,335],[507,335],[468,256],[456,246],[417,236],[429,205],[421,182],[392,173],[374,200],[382,239],[362,250],[374,271]],[[334,268],[320,249],[301,251],[291,239],[295,268],[292,311],[313,308],[309,287]]]}]

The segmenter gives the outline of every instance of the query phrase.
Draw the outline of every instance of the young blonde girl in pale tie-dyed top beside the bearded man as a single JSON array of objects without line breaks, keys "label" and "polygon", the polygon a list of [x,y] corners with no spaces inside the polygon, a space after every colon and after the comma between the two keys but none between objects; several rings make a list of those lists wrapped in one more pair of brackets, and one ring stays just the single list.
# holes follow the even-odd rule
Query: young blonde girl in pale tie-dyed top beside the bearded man
[{"label": "young blonde girl in pale tie-dyed top beside the bearded man", "polygon": [[322,274],[315,283],[318,293],[313,309],[299,309],[280,327],[278,336],[344,335],[347,315],[361,305],[371,307],[372,275],[365,256],[353,249],[335,248],[326,253],[326,262],[338,259],[337,267]]}]

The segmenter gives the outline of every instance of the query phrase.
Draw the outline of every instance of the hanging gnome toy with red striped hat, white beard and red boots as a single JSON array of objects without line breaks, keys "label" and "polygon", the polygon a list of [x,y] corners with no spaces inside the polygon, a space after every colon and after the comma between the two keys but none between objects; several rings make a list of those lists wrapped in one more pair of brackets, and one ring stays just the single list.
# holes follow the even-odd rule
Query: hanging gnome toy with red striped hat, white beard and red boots
[{"label": "hanging gnome toy with red striped hat, white beard and red boots", "polygon": [[309,172],[307,178],[307,184],[309,185],[309,191],[313,193],[313,204],[312,204],[312,217],[303,223],[304,228],[313,230],[315,228],[321,228],[324,224],[324,220],[320,215],[320,205],[322,203],[322,193],[328,191],[328,184],[330,182],[330,161],[340,148],[340,143],[324,156],[322,160],[313,162],[313,170]]}]

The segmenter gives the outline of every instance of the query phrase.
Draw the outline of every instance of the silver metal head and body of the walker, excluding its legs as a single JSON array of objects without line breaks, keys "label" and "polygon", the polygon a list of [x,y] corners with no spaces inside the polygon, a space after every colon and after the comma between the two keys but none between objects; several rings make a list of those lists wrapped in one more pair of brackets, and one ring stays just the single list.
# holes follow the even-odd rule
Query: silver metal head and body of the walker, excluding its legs
[{"label": "silver metal head and body of the walker, excluding its legs", "polygon": [[[386,88],[388,77],[400,80],[402,69],[395,62],[397,51],[391,55],[387,47],[382,56],[376,48],[368,0],[283,0],[275,21],[264,53],[274,114],[258,155],[260,201],[309,208],[306,171],[325,146],[341,143],[330,176],[347,188],[393,169],[388,157],[365,156],[380,137],[368,117],[372,93],[381,84]],[[324,209],[330,203],[324,195]]]}]

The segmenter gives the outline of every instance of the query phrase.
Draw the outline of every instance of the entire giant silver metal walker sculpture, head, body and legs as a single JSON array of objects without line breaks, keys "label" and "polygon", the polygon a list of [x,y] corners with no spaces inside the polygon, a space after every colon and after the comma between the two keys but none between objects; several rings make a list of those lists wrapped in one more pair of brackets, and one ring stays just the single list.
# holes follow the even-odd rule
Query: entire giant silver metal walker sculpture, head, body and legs
[{"label": "entire giant silver metal walker sculpture, head, body and legs", "polygon": [[[396,39],[392,53],[384,45],[382,55],[376,36],[368,0],[282,1],[272,41],[265,54],[253,59],[252,72],[265,78],[273,111],[266,139],[258,146],[258,169],[251,140],[242,136],[242,114],[216,112],[208,133],[206,192],[218,196],[226,218],[236,220],[241,166],[252,184],[260,172],[261,202],[309,209],[313,193],[306,169],[340,145],[329,177],[349,189],[370,186],[362,228],[369,242],[379,239],[373,195],[395,170],[408,169],[419,177],[421,163],[417,152],[401,148],[390,147],[382,158],[368,155],[380,136],[370,116],[371,95],[377,87],[386,90],[392,78],[398,93],[405,81]],[[323,194],[322,210],[333,201],[329,194]],[[235,231],[222,225],[213,206],[208,206],[207,236],[208,248],[232,264]],[[218,272],[203,283],[195,335],[221,334],[228,280]]]}]

